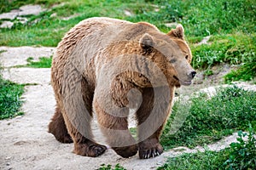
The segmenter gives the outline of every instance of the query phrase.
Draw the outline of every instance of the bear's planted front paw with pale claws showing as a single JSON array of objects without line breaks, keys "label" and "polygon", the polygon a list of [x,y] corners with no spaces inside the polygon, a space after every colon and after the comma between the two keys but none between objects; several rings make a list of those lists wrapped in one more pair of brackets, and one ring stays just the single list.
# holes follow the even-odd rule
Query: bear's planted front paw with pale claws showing
[{"label": "bear's planted front paw with pale claws showing", "polygon": [[150,157],[160,156],[163,153],[161,144],[154,144],[154,146],[141,145],[139,147],[140,159],[148,159]]}]

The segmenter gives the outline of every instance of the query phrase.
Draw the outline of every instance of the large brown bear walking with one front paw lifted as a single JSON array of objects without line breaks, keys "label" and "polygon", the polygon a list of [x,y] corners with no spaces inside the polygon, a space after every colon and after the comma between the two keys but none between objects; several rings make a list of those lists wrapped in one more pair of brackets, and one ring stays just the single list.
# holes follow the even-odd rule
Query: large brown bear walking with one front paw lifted
[{"label": "large brown bear walking with one front paw lifted", "polygon": [[[195,70],[183,26],[167,34],[146,22],[104,17],[81,21],[56,48],[51,67],[55,115],[49,133],[74,143],[74,153],[100,156],[93,139],[93,112],[109,146],[119,156],[142,159],[163,152],[160,133],[171,112],[174,90],[190,85]],[[137,117],[137,140],[129,111]]]}]

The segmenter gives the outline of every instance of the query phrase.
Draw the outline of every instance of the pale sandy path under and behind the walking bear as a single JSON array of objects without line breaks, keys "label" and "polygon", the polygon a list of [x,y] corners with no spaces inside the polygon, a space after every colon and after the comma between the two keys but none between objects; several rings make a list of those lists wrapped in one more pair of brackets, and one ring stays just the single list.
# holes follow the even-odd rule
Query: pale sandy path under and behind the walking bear
[{"label": "pale sandy path under and behind the walking bear", "polygon": [[[3,77],[19,83],[37,83],[26,86],[25,100],[22,106],[24,116],[0,121],[0,169],[96,169],[102,163],[119,163],[126,169],[155,169],[166,161],[166,156],[177,156],[177,149],[164,152],[154,159],[139,160],[138,156],[124,159],[113,150],[107,150],[96,158],[77,156],[72,153],[73,144],[61,144],[53,135],[47,133],[47,126],[55,109],[55,99],[49,85],[49,69],[7,68],[26,64],[28,57],[38,59],[52,55],[54,48],[7,48],[0,54],[3,65]],[[94,127],[96,129],[96,125]],[[101,133],[95,131],[98,139]],[[209,145],[210,150],[220,150],[236,141],[236,134]],[[201,147],[183,152],[203,151]]]}]

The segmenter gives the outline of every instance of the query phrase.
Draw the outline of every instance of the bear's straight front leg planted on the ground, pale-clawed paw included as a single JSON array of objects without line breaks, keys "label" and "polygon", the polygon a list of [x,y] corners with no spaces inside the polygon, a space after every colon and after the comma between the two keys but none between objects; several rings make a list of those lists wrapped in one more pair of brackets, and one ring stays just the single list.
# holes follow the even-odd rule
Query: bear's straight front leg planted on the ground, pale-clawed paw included
[{"label": "bear's straight front leg planted on the ground, pale-clawed paw included", "polygon": [[160,156],[160,133],[171,109],[168,88],[143,88],[143,102],[137,111],[138,150],[141,159]]}]

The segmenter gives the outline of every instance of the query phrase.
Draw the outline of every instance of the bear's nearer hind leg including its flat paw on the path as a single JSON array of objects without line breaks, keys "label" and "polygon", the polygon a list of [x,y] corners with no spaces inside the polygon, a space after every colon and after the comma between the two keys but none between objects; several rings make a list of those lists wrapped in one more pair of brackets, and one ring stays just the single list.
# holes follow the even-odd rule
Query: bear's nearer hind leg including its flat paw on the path
[{"label": "bear's nearer hind leg including its flat paw on the path", "polygon": [[96,157],[101,156],[105,150],[107,150],[107,147],[102,144],[97,144],[93,139],[90,127],[93,90],[89,87],[88,82],[83,78],[81,80],[81,86],[73,88],[74,93],[66,102],[68,115],[66,113],[63,114],[63,116],[67,124],[68,133],[71,135],[74,142],[73,152],[80,156]]}]

